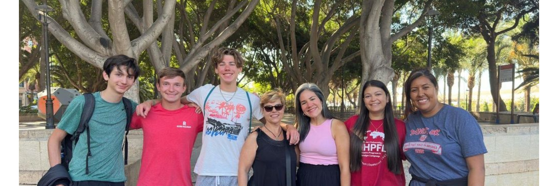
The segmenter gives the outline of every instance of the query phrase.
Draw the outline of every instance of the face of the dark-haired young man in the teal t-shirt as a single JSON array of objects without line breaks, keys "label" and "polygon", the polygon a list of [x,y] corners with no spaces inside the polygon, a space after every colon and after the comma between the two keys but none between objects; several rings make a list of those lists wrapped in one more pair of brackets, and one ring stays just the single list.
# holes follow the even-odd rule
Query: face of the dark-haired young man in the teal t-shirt
[{"label": "face of the dark-haired young man in the teal t-shirt", "polygon": [[124,65],[114,66],[110,74],[103,71],[103,78],[107,80],[107,90],[118,94],[124,94],[136,80],[133,71]]}]

